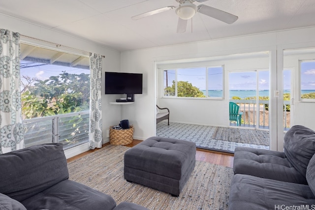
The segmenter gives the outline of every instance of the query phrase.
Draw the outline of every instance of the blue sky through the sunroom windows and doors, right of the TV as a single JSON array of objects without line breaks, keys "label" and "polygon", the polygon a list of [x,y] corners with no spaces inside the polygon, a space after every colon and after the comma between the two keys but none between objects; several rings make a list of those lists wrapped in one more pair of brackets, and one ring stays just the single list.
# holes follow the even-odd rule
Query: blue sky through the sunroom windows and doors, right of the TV
[{"label": "blue sky through the sunroom windows and doors, right of the TV", "polygon": [[[206,89],[205,68],[178,69],[178,81],[188,81],[200,90]],[[258,72],[258,90],[269,90],[269,71]],[[213,67],[209,72],[208,90],[222,90],[222,74],[219,67]],[[229,90],[255,90],[256,71],[229,73]],[[168,85],[175,80],[175,70],[168,72]],[[291,75],[284,70],[284,90],[291,89]],[[165,85],[165,82],[164,82]],[[301,90],[315,90],[315,61],[301,63]]]}]

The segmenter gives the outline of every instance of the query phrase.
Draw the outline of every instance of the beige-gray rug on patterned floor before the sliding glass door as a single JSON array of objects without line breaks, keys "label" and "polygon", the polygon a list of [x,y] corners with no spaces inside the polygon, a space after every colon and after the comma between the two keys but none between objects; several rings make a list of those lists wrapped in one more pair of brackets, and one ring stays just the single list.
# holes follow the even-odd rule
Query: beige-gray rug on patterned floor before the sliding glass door
[{"label": "beige-gray rug on patterned floor before the sliding glass door", "polygon": [[269,146],[270,142],[269,131],[230,127],[218,127],[212,138],[224,141],[267,146]]}]

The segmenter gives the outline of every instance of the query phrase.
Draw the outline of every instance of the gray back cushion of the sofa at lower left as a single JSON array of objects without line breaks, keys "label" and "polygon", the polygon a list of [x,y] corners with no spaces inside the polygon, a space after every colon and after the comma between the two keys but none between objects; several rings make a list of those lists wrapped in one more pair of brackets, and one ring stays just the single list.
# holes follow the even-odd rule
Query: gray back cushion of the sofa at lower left
[{"label": "gray back cushion of the sofa at lower left", "polygon": [[0,155],[0,193],[21,202],[69,177],[63,144],[34,145]]}]

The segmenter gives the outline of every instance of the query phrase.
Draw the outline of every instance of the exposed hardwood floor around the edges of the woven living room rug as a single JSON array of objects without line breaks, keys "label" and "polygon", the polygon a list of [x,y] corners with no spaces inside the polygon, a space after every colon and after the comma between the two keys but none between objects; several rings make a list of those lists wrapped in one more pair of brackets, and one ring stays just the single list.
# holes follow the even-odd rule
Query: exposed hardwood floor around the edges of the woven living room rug
[{"label": "exposed hardwood floor around the edges of the woven living room rug", "polygon": [[[133,140],[132,143],[125,145],[126,147],[133,147],[137,144],[142,142],[141,140]],[[103,145],[103,147],[106,147],[109,145],[109,143],[106,143]],[[94,152],[99,149],[95,150],[89,150],[86,152],[83,152],[81,154],[78,154],[74,157],[70,157],[67,159],[67,162],[71,162],[75,159],[78,159],[80,157],[83,157],[91,152]],[[196,160],[198,161],[204,161],[204,162],[209,162],[217,165],[222,165],[222,166],[227,166],[233,168],[233,158],[234,155],[230,153],[224,153],[224,152],[218,152],[218,151],[210,151],[210,150],[203,150],[203,149],[197,149],[196,151]]]}]

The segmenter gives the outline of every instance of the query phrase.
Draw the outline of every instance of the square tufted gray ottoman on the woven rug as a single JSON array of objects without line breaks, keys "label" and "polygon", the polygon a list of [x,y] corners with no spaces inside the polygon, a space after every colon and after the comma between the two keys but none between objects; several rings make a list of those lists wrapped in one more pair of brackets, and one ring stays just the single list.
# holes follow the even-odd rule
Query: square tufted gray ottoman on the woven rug
[{"label": "square tufted gray ottoman on the woven rug", "polygon": [[193,142],[151,137],[125,153],[124,176],[136,182],[179,196],[195,167]]}]

